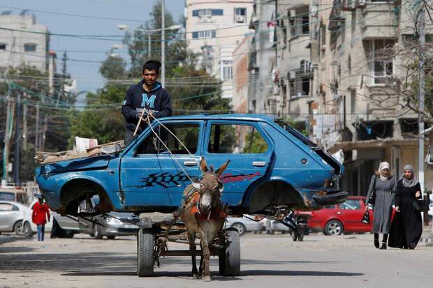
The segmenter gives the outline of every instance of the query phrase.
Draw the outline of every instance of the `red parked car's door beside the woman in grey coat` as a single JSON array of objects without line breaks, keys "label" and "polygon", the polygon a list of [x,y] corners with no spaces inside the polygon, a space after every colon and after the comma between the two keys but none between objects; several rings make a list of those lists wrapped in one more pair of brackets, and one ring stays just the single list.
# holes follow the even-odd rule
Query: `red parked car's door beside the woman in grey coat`
[{"label": "red parked car's door beside the woman in grey coat", "polygon": [[345,231],[356,231],[360,229],[362,215],[360,199],[347,199],[346,202],[339,205],[337,211],[340,221],[344,225]]}]

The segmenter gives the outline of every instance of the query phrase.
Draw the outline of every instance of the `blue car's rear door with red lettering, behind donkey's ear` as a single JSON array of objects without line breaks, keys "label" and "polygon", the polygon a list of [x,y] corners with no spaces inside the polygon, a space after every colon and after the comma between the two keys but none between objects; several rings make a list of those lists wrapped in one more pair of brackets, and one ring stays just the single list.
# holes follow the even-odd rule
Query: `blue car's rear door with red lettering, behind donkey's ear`
[{"label": "blue car's rear door with red lettering, behind donkey's ear", "polygon": [[212,120],[206,124],[203,156],[215,169],[230,160],[220,176],[223,203],[239,205],[247,188],[266,176],[273,144],[256,122]]}]

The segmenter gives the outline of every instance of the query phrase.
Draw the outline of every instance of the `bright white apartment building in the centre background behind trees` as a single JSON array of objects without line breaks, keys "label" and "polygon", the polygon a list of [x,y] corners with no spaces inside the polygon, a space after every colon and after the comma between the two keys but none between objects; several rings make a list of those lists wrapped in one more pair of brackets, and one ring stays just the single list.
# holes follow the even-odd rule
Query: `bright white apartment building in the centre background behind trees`
[{"label": "bright white apartment building in the centre background behind trees", "polygon": [[233,98],[233,51],[249,33],[252,0],[186,0],[186,40],[208,73]]}]

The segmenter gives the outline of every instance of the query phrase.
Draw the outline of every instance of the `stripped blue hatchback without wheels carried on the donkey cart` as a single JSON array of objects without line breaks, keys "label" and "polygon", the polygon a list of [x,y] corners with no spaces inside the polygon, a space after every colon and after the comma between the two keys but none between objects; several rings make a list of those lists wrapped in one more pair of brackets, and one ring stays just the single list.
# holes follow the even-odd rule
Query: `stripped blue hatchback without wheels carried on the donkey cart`
[{"label": "stripped blue hatchback without wheels carried on the donkey cart", "polygon": [[[348,196],[339,189],[344,167],[337,160],[282,119],[260,114],[158,119],[120,151],[46,163],[35,173],[57,213],[170,213],[189,179],[200,178],[202,157],[214,167],[230,159],[220,179],[233,214],[311,211]],[[89,207],[94,195],[100,202]]]}]

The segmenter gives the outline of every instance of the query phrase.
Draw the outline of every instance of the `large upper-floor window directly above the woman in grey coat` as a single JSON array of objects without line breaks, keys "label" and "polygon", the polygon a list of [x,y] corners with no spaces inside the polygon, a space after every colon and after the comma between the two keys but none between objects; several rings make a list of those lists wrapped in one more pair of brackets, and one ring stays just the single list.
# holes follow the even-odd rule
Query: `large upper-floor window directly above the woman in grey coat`
[{"label": "large upper-floor window directly above the woman in grey coat", "polygon": [[387,82],[387,77],[394,74],[392,47],[394,40],[372,40],[370,42],[369,69],[374,84]]}]

